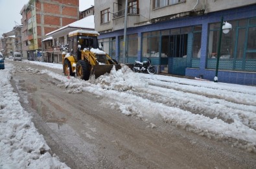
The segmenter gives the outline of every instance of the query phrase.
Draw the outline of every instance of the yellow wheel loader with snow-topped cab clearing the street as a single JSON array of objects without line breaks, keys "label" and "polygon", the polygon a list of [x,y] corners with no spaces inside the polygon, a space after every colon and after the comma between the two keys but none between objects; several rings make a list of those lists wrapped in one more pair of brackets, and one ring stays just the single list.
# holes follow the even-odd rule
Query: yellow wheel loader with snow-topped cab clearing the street
[{"label": "yellow wheel loader with snow-topped cab clearing the street", "polygon": [[[65,76],[77,76],[89,80],[91,75],[98,78],[110,73],[113,65],[121,69],[121,65],[112,59],[106,52],[99,49],[96,31],[75,30],[69,33],[68,53],[62,53],[62,64]],[[132,68],[132,64],[128,64]]]}]

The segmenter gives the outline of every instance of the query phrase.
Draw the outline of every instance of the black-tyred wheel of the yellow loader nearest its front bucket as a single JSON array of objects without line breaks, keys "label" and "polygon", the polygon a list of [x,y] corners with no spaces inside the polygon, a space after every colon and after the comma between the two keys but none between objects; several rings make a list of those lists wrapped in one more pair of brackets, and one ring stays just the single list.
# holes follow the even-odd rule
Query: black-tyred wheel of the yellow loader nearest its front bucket
[{"label": "black-tyred wheel of the yellow loader nearest its front bucket", "polygon": [[89,80],[91,65],[84,60],[76,63],[76,76],[82,80]]}]

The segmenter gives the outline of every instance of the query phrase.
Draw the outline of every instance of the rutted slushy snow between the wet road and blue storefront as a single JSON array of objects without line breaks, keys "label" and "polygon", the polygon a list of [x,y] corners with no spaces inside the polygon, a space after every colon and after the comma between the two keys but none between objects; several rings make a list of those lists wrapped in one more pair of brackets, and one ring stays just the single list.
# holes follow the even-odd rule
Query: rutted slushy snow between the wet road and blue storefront
[{"label": "rutted slushy snow between the wet road and blue storefront", "polygon": [[125,66],[87,82],[47,70],[42,73],[60,80],[69,93],[91,92],[114,99],[110,107],[125,115],[150,122],[160,115],[168,124],[256,152],[254,86],[139,74]]}]

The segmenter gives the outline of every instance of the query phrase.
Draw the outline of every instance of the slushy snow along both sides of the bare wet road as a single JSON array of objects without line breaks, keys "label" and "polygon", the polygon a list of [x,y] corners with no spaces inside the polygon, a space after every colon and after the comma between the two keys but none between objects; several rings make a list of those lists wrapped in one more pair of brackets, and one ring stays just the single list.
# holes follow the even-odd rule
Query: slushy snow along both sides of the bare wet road
[{"label": "slushy snow along both sides of the bare wet road", "polygon": [[[124,65],[119,71],[113,69],[96,80],[84,81],[47,70],[62,69],[58,63],[29,63],[46,68],[39,71],[26,67],[27,71],[60,80],[59,86],[66,87],[67,93],[90,92],[109,97],[114,100],[108,103],[111,109],[150,122],[152,128],[157,127],[154,119],[161,117],[167,124],[256,152],[256,87],[139,74]],[[57,157],[51,157],[29,113],[19,104],[10,85],[11,69],[12,64],[6,63],[6,69],[0,71],[0,148],[4,152],[0,155],[0,167],[30,164],[32,168],[41,161],[66,168]],[[25,140],[19,142],[22,139]]]}]

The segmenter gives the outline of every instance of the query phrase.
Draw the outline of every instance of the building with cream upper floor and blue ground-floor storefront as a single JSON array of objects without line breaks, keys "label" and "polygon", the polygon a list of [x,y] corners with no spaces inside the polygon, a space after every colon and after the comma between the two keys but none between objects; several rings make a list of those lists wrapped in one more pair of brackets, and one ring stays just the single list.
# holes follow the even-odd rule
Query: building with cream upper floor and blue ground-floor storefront
[{"label": "building with cream upper floor and blue ground-floor storefront", "polygon": [[[124,43],[125,2],[95,1],[95,30],[112,58],[149,57],[157,73],[256,85],[255,0],[128,0]],[[219,40],[222,17],[232,29]]]}]

